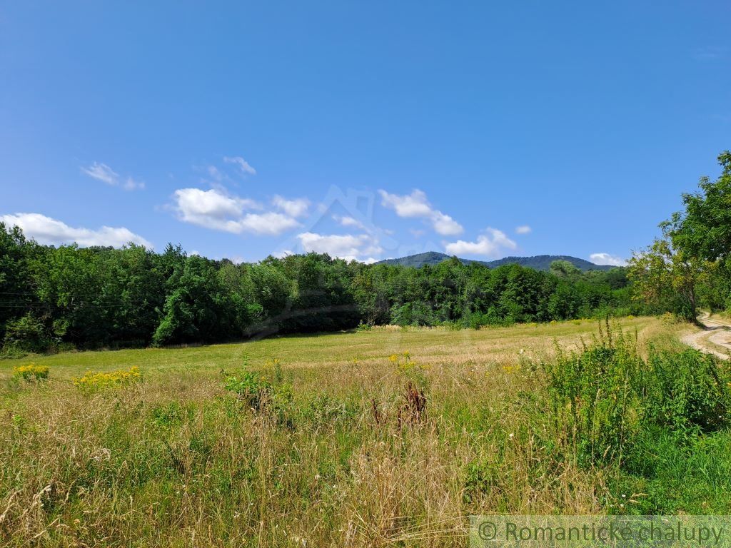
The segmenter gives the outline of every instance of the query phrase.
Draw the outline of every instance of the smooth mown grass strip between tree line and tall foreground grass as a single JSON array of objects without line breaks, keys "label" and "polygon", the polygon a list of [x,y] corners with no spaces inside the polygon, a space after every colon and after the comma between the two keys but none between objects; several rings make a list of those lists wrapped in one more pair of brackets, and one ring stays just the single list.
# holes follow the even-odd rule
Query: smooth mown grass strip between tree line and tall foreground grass
[{"label": "smooth mown grass strip between tree line and tall foreground grass", "polygon": [[[624,330],[656,329],[656,320],[621,319]],[[290,368],[330,368],[352,359],[378,362],[404,349],[428,362],[480,357],[482,360],[512,361],[520,349],[550,351],[553,340],[578,343],[596,333],[596,320],[573,320],[556,324],[518,324],[514,327],[481,330],[445,328],[399,329],[374,328],[368,332],[344,332],[322,335],[292,335],[246,343],[192,346],[175,349],[134,349],[119,351],[64,352],[50,356],[29,356],[0,360],[0,375],[8,376],[12,367],[38,363],[53,368],[56,375],[79,375],[86,370],[113,370],[137,365],[151,372],[191,372],[240,365],[246,356],[254,364],[277,357]]]}]

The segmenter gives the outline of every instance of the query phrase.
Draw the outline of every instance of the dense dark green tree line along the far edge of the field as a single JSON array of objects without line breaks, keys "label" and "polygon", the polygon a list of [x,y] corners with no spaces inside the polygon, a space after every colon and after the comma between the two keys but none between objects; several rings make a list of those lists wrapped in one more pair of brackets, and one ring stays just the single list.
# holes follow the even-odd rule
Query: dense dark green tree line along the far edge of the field
[{"label": "dense dark green tree line along the far edge of the field", "polygon": [[42,246],[0,224],[0,340],[6,354],[74,346],[240,340],[379,324],[480,327],[646,313],[626,269],[488,268],[456,258],[421,268],[327,254],[234,264],[121,249]]}]

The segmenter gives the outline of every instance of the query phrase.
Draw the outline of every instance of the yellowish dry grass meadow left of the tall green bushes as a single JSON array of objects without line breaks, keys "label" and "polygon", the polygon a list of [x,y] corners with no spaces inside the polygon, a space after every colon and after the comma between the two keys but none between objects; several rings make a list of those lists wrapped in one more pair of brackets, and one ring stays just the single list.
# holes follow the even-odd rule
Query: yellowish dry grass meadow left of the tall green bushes
[{"label": "yellowish dry grass meadow left of the tall green bushes", "polygon": [[[640,341],[677,327],[625,319]],[[374,330],[0,362],[0,539],[44,547],[461,547],[473,513],[591,514],[601,471],[553,446],[530,359],[591,321]],[[390,354],[410,351],[414,367]],[[245,358],[246,357],[246,358]],[[219,371],[278,358],[286,408],[252,411]],[[12,366],[50,379],[11,381]],[[87,370],[138,383],[83,392]],[[419,413],[406,387],[425,390]]]}]

